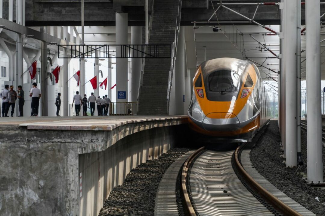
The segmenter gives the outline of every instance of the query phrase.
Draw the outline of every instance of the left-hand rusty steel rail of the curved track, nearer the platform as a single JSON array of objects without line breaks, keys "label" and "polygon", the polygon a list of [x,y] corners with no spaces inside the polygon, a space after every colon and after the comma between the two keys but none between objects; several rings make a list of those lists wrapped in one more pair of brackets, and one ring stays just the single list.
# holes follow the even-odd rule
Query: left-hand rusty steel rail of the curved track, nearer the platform
[{"label": "left-hand rusty steel rail of the curved track, nearer the platform", "polygon": [[182,169],[182,174],[181,174],[181,191],[182,191],[182,196],[183,196],[183,207],[184,207],[184,211],[187,212],[186,215],[189,216],[196,216],[196,213],[194,211],[194,208],[191,204],[191,200],[189,199],[188,196],[188,191],[186,188],[186,177],[188,174],[188,169],[190,167],[190,165],[192,164],[192,162],[194,161],[195,157],[197,155],[199,155],[200,153],[202,153],[205,150],[205,147],[201,147],[198,150],[196,150],[194,153],[192,153],[188,159],[186,159],[184,165],[183,165],[183,169]]}]

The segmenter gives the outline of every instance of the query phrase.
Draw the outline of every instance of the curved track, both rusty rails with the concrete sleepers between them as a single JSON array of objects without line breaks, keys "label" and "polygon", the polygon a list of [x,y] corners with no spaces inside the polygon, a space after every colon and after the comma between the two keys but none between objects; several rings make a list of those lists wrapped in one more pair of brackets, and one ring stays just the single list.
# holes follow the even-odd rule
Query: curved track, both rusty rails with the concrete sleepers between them
[{"label": "curved track, both rusty rails with the concrete sleepers between them", "polygon": [[[245,171],[240,162],[243,148],[244,145],[241,145],[235,151],[214,152],[202,147],[188,157],[181,174],[181,197],[185,214],[273,215],[269,209],[274,208],[283,215],[300,216],[300,213],[269,193]],[[244,182],[235,174],[231,165],[232,157],[238,177]],[[259,196],[254,197],[243,183]]]}]

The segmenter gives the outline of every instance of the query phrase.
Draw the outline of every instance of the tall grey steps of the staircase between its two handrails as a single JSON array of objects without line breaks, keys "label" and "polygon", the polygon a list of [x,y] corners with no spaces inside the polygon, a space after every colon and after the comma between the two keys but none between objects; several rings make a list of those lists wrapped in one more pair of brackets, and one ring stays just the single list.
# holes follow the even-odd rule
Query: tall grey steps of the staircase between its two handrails
[{"label": "tall grey steps of the staircase between its two handrails", "polygon": [[[149,44],[173,44],[178,4],[177,0],[155,1]],[[168,114],[167,87],[170,68],[170,58],[145,60],[138,115]]]}]

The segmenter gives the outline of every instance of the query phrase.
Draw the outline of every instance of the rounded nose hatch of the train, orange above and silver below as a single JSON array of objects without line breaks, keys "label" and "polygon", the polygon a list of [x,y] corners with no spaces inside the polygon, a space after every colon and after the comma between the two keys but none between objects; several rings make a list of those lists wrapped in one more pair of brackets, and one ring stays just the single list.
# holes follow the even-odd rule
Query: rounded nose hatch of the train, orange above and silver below
[{"label": "rounded nose hatch of the train, orange above and silver below", "polygon": [[236,131],[239,124],[236,115],[224,112],[209,113],[202,121],[204,129],[207,131]]}]

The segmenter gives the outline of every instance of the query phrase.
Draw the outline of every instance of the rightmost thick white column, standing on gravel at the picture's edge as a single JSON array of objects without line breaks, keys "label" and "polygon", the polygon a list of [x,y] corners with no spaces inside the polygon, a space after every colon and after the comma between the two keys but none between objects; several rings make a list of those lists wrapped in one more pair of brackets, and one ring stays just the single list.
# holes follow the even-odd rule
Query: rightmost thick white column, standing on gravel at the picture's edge
[{"label": "rightmost thick white column, standing on gravel at the picture's edge", "polygon": [[306,4],[307,178],[323,182],[320,102],[320,1]]}]

